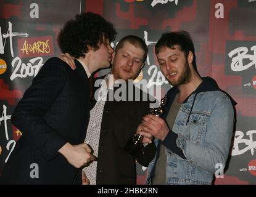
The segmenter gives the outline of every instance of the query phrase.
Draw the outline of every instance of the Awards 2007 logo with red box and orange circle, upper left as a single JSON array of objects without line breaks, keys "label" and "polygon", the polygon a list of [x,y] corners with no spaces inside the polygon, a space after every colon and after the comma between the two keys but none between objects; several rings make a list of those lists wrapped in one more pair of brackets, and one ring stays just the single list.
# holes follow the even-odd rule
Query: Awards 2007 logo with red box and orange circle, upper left
[{"label": "Awards 2007 logo with red box and orange circle, upper left", "polygon": [[[10,43],[10,54],[14,57],[14,50],[12,44],[13,37],[28,37],[27,33],[12,32],[12,23],[8,23],[9,28],[7,33],[1,31],[0,26],[0,54],[4,54],[4,47],[6,46],[7,38]],[[15,78],[26,78],[27,76],[35,77],[41,66],[43,66],[43,58],[36,57],[38,55],[53,55],[53,42],[51,36],[18,39],[18,47],[20,49],[20,57],[35,57],[31,58],[28,63],[22,63],[20,57],[15,57],[12,60],[12,67],[14,71],[10,76],[10,80]],[[7,69],[6,62],[0,60],[0,74],[4,73]]]}]

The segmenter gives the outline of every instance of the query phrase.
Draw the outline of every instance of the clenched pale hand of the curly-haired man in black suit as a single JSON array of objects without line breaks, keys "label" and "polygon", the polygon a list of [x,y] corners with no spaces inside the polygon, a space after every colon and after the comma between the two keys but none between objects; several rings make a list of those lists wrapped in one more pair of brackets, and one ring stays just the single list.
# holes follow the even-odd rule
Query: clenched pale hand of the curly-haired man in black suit
[{"label": "clenched pale hand of the curly-haired man in black suit", "polygon": [[67,142],[60,148],[59,153],[76,168],[83,167],[96,159],[95,156],[91,155],[91,148],[86,143],[71,145]]}]

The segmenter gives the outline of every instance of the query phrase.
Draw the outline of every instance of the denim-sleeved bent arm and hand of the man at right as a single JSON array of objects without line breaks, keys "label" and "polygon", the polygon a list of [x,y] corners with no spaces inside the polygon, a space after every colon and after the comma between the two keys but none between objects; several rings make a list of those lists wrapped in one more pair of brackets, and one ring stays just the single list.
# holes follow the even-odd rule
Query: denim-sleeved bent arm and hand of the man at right
[{"label": "denim-sleeved bent arm and hand of the man at right", "polygon": [[[220,163],[225,166],[228,157],[233,134],[233,118],[230,117],[234,117],[234,110],[229,98],[226,97],[217,102],[210,116],[204,146],[189,141],[181,134],[175,134],[162,118],[152,115],[144,118],[142,130],[162,140],[163,145],[170,150],[178,147],[182,150],[184,159],[214,174],[216,164]],[[180,153],[176,154],[182,157]]]}]

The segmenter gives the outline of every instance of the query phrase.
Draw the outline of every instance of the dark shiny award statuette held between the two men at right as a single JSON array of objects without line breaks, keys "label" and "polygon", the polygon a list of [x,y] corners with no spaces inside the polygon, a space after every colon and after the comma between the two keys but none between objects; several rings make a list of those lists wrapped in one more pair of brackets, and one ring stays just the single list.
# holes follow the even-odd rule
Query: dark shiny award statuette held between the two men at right
[{"label": "dark shiny award statuette held between the two men at right", "polygon": [[[150,108],[149,114],[155,115],[157,117],[160,117],[163,115],[163,107],[167,103],[167,95],[161,99],[160,106],[158,108]],[[133,156],[134,158],[137,158],[139,156],[139,153],[143,153],[143,144],[141,143],[142,135],[134,134],[128,142],[125,144],[125,147],[123,148],[129,155]]]}]

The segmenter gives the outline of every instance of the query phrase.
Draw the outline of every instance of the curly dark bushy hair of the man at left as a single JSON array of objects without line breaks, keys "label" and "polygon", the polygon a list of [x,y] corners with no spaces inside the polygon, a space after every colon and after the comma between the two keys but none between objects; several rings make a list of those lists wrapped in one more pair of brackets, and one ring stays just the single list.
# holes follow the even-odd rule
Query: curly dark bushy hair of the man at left
[{"label": "curly dark bushy hair of the man at left", "polygon": [[114,41],[117,31],[112,23],[107,22],[101,15],[86,12],[68,20],[60,30],[57,42],[63,53],[69,53],[75,58],[85,57],[88,46],[99,49],[104,39]]}]

